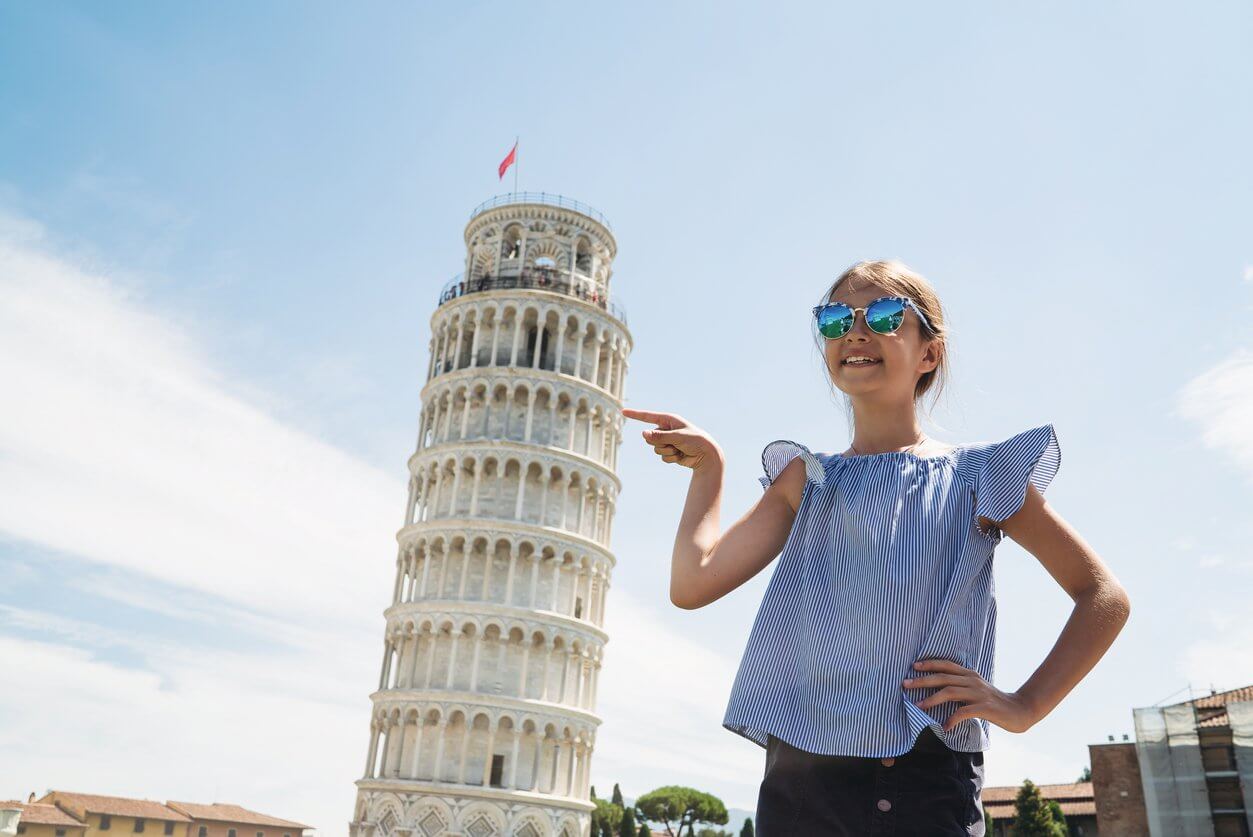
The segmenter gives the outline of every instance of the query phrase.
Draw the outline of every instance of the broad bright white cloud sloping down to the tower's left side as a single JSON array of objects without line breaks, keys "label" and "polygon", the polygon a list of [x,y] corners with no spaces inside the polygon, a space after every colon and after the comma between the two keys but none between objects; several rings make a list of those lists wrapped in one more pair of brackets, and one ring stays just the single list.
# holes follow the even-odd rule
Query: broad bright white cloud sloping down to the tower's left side
[{"label": "broad bright white cloud sloping down to the tower's left side", "polygon": [[0,533],[261,613],[377,611],[396,477],[233,395],[100,276],[0,241]]}]

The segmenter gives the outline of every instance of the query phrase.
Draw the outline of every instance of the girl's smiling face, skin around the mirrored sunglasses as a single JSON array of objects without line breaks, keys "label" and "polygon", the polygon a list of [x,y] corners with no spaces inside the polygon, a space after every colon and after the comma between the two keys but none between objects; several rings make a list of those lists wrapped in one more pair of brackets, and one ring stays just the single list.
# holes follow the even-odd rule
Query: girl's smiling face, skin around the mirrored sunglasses
[{"label": "girl's smiling face, skin around the mirrored sunglasses", "polygon": [[[845,282],[831,294],[829,302],[843,302],[853,308],[890,294],[877,284],[856,289]],[[940,362],[938,343],[923,337],[922,323],[912,308],[906,308],[905,322],[891,335],[880,335],[866,325],[866,312],[858,311],[853,327],[843,337],[827,340],[824,355],[827,372],[837,387],[850,396],[876,393],[898,395],[912,400],[918,378]],[[870,363],[850,365],[850,357],[870,357]]]}]

